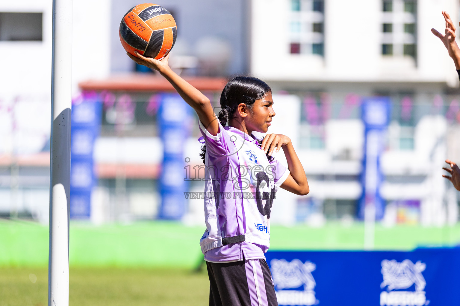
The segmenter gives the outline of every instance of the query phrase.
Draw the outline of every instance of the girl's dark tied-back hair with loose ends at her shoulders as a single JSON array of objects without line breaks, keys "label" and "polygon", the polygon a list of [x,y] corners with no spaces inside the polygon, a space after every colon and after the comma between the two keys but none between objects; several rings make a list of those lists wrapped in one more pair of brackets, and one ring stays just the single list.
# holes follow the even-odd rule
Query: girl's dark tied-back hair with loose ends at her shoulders
[{"label": "girl's dark tied-back hair with loose ends at her shoulders", "polygon": [[[225,126],[230,118],[234,118],[236,108],[240,103],[246,104],[251,109],[256,100],[262,99],[270,92],[270,86],[258,78],[241,76],[231,79],[220,95],[222,110],[217,115],[220,123]],[[201,146],[201,150],[200,156],[205,163],[206,145]],[[267,158],[272,160],[273,156],[267,155]]]}]

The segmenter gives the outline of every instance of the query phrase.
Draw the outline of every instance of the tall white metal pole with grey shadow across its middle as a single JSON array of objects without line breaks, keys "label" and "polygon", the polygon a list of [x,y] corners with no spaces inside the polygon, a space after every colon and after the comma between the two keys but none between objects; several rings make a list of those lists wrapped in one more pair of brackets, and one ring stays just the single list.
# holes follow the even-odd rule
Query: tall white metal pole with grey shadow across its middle
[{"label": "tall white metal pole with grey shadow across its middle", "polygon": [[69,305],[72,0],[53,0],[48,306]]}]

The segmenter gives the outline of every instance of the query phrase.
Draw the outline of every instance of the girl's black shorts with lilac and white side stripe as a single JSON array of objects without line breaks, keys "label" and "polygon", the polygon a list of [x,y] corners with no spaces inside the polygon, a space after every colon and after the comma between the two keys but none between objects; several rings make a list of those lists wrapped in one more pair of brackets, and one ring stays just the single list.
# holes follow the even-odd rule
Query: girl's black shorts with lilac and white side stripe
[{"label": "girl's black shorts with lilac and white side stripe", "polygon": [[206,262],[209,306],[278,306],[265,259]]}]

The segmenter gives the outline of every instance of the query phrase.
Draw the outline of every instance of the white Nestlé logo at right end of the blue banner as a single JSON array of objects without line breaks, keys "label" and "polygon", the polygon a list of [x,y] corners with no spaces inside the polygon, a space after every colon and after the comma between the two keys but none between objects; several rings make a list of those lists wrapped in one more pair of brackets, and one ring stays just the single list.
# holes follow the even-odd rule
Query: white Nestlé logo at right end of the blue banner
[{"label": "white Nestl\u00e9 logo at right end of the blue banner", "polygon": [[[380,293],[380,306],[422,306],[430,304],[426,300],[425,286],[426,281],[422,275],[426,264],[417,261],[415,264],[406,259],[403,262],[396,260],[382,261],[383,282],[380,288],[387,291]],[[398,289],[408,289],[415,285],[415,291],[393,291]]]}]

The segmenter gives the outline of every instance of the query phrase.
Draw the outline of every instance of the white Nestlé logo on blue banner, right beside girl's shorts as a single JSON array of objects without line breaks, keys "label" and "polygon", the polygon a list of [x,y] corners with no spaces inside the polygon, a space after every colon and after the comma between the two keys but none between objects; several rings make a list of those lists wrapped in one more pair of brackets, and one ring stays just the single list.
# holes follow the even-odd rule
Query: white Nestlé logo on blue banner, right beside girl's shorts
[{"label": "white Nestl\u00e9 logo on blue banner, right beside girl's shorts", "polygon": [[310,306],[319,304],[314,291],[315,278],[311,274],[316,269],[313,262],[305,261],[303,263],[299,259],[292,261],[272,259],[270,266],[278,305]]}]

